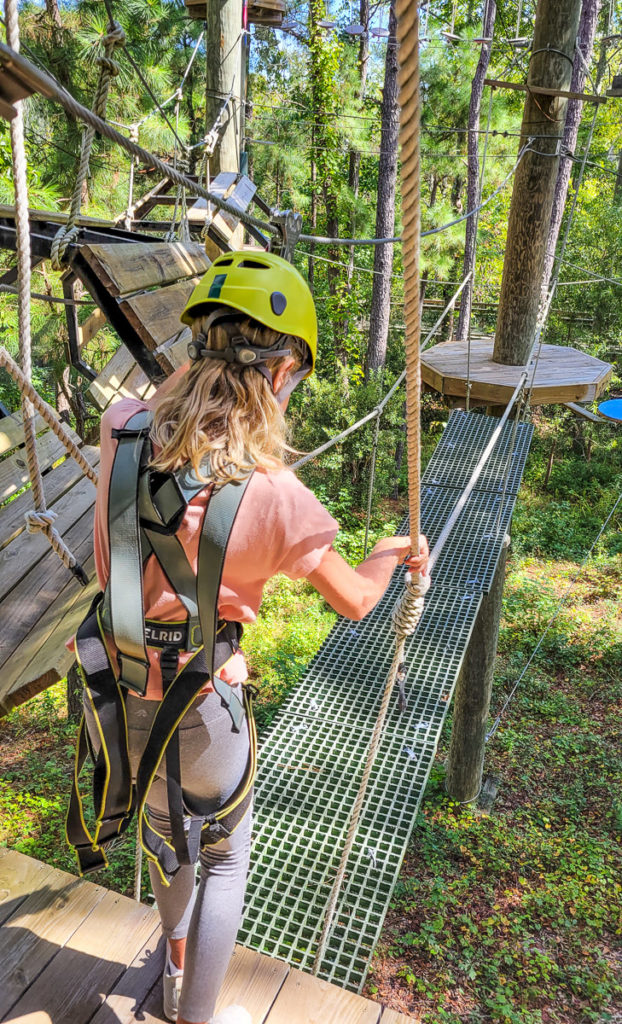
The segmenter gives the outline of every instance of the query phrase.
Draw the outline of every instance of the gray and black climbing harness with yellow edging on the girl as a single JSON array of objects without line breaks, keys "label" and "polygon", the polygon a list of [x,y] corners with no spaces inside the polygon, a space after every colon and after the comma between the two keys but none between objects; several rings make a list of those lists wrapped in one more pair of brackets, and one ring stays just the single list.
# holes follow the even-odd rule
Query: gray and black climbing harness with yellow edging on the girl
[{"label": "gray and black climbing harness with yellow edging on the girl", "polygon": [[[98,594],[76,634],[76,656],[84,693],[98,743],[91,739],[83,717],[76,748],[74,782],[67,816],[67,839],[76,850],[80,872],[108,864],[106,848],[126,830],[134,812],[138,837],[148,858],[154,861],[165,884],[180,864],[194,863],[202,846],[215,845],[238,826],[252,798],[256,764],[256,731],[252,691],[244,688],[243,701],[217,672],[238,649],[241,626],[218,620],[218,592],[231,530],[248,485],[226,483],[209,499],[199,541],[195,574],[177,537],[188,503],[204,489],[190,467],[174,473],[149,468],[151,414],[132,416],[125,427],[114,430],[118,441],[109,494],[110,579]],[[154,556],[183,604],[185,622],[146,620],[142,572]],[[118,678],[113,672],[107,634],[117,647]],[[125,701],[128,691],[143,694],[150,670],[148,647],[160,648],[163,697],[132,782]],[[193,656],[178,670],[179,651]],[[190,829],[184,831],[189,809],[183,799],[179,765],[178,726],[207,679],[226,706],[232,727],[247,726],[250,754],[247,769],[226,804],[211,814],[193,806]],[[94,829],[87,827],[79,775],[91,755],[93,771]],[[162,758],[166,758],[172,843],[149,823],[146,805]]]}]

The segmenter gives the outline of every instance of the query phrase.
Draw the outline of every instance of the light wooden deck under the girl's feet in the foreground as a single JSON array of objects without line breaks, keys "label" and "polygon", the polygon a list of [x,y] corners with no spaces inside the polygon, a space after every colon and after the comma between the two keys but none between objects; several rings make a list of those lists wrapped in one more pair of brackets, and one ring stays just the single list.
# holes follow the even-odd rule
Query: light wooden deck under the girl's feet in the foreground
[{"label": "light wooden deck under the girl's feet in the foreground", "polygon": [[[0,1020],[160,1024],[164,943],[155,909],[0,849]],[[414,1024],[353,992],[236,947],[218,1007],[253,1024]]]}]

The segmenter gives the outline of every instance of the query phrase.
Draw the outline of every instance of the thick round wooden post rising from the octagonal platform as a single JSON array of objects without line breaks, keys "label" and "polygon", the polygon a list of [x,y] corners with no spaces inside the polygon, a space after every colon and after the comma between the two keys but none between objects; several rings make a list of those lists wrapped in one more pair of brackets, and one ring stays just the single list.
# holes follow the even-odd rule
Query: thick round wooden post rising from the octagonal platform
[{"label": "thick round wooden post rising from the octagonal platform", "polygon": [[[528,86],[569,90],[581,0],[539,0]],[[566,56],[564,55],[566,54]],[[568,100],[526,93],[521,146],[537,135],[514,176],[493,358],[525,366],[538,319],[561,136]]]}]

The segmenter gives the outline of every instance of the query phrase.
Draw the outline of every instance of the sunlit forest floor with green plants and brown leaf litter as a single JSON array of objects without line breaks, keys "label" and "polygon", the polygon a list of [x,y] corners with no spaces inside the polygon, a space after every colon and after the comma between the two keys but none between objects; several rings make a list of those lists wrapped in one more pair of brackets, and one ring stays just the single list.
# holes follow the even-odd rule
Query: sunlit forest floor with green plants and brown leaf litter
[{"label": "sunlit forest floor with green plants and brown leaf litter", "polygon": [[[446,730],[368,977],[365,994],[427,1024],[620,1020],[618,517],[573,584],[619,490],[608,429],[593,444],[562,434],[545,486],[551,437],[540,425],[514,517],[493,714],[572,591],[489,744],[499,791],[486,813],[445,794]],[[260,727],[333,622],[306,584],[273,581],[245,637]],[[68,870],[74,731],[63,683],[0,723],[0,844]],[[132,874],[130,842],[96,881],[129,892]]]}]

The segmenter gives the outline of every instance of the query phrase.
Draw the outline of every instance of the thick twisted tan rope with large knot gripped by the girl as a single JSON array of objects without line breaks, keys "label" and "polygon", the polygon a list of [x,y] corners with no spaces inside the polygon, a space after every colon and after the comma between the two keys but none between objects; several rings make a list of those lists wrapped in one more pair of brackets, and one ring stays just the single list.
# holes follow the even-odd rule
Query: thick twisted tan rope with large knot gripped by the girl
[{"label": "thick twisted tan rope with large knot gripped by the girl", "polygon": [[[421,314],[419,302],[419,18],[417,4],[412,0],[398,0],[398,81],[400,84],[400,143],[402,150],[402,223],[404,243],[404,294],[406,323],[406,403],[408,423],[408,475],[410,532],[415,550],[419,548],[419,480],[420,480],[420,395],[421,376],[419,345]],[[369,744],[361,785],[347,829],[337,873],[333,882],[322,934],[314,961],[313,972],[318,974],[328,945],[339,893],[345,877],[347,861],[355,845],[357,829],[365,803],[369,779],[380,746],[382,730],[388,713],[396,680],[400,682],[401,701],[404,707],[403,686],[406,679],[404,651],[407,638],[415,632],[423,612],[423,596],[429,578],[407,577],[403,597],[393,609],[396,651],[388,672],[378,718]]]}]

